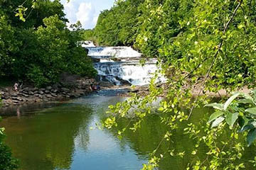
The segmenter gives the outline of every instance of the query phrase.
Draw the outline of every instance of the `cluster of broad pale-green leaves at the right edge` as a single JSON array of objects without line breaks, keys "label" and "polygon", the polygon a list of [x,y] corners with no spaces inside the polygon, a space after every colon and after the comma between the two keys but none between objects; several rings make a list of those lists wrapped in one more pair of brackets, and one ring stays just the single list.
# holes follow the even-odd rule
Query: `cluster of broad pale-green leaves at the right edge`
[{"label": "cluster of broad pale-green leaves at the right edge", "polygon": [[251,91],[251,95],[238,92],[225,103],[211,103],[206,106],[218,110],[208,120],[208,123],[213,122],[211,128],[217,127],[224,120],[230,129],[239,125],[238,132],[247,132],[247,144],[252,145],[256,139],[256,90]]}]

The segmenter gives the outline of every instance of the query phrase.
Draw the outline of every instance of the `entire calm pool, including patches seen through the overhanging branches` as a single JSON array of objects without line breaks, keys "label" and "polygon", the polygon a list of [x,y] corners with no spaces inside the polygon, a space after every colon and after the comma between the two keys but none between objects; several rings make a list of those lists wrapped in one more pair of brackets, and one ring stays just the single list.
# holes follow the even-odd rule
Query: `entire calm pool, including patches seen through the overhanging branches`
[{"label": "entire calm pool, including patches seen through the overhanging branches", "polygon": [[[136,170],[148,161],[147,154],[156,149],[166,126],[158,115],[151,115],[142,122],[142,128],[133,133],[127,131],[122,140],[117,130],[97,130],[95,123],[105,117],[110,104],[124,101],[117,91],[101,91],[66,103],[46,104],[0,111],[4,120],[0,126],[6,128],[6,143],[14,156],[20,159],[22,170]],[[18,112],[18,115],[17,115]],[[204,117],[205,108],[196,110],[191,121]],[[119,120],[120,129],[129,120]],[[195,143],[183,135],[183,130],[174,132],[171,139],[161,145],[159,152],[165,153],[169,145],[176,150],[191,153]],[[255,148],[246,151],[253,155]],[[204,148],[199,157],[206,157]],[[159,169],[186,169],[193,162],[193,155],[171,157],[164,155]]]}]

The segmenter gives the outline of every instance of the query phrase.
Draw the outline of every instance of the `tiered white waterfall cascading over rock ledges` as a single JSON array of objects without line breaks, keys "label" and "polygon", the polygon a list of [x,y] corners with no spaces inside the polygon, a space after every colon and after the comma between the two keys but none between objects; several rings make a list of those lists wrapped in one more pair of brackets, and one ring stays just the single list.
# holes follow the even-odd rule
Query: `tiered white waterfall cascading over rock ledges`
[{"label": "tiered white waterfall cascading over rock ledges", "polygon": [[[156,60],[148,60],[144,66],[139,63],[142,54],[132,47],[93,47],[92,42],[87,42],[88,55],[95,62],[98,76],[101,81],[110,81],[115,85],[124,83],[142,86],[149,84],[151,77],[157,70]],[[165,81],[159,77],[157,81]]]}]

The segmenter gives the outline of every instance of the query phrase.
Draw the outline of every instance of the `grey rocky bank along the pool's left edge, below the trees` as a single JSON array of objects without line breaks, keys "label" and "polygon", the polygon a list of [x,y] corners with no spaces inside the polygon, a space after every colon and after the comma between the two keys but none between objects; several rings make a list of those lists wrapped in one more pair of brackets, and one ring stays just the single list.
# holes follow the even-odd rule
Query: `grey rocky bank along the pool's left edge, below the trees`
[{"label": "grey rocky bank along the pool's left edge, below the trees", "polygon": [[[64,83],[63,83],[64,82]],[[46,88],[36,88],[33,86],[24,86],[18,91],[13,87],[4,87],[0,89],[1,106],[18,106],[25,103],[46,103],[52,101],[63,101],[70,98],[78,98],[90,94],[90,84],[95,79],[76,79],[66,84],[63,81],[60,84],[46,86]]]}]

